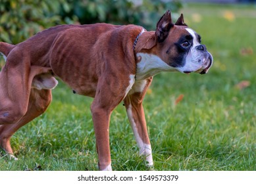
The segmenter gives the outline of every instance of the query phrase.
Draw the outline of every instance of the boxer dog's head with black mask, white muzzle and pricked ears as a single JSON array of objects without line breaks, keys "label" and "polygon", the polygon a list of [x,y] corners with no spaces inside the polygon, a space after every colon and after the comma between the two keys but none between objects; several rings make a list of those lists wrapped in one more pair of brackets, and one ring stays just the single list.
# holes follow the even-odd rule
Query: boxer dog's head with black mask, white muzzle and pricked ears
[{"label": "boxer dog's head with black mask, white muzzle and pricked ears", "polygon": [[213,57],[201,44],[201,37],[184,23],[183,15],[172,23],[170,11],[161,17],[155,31],[157,51],[161,59],[176,70],[189,74],[206,74]]}]

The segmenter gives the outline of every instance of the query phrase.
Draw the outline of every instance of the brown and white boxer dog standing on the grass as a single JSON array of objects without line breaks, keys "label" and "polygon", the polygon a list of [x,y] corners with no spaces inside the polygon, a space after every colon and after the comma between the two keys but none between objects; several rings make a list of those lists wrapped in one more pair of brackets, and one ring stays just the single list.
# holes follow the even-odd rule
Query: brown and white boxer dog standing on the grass
[{"label": "brown and white boxer dog standing on the grass", "polygon": [[121,101],[140,154],[145,155],[147,166],[153,166],[143,97],[159,72],[207,73],[213,57],[200,42],[182,15],[172,23],[170,11],[155,32],[135,25],[63,25],[17,45],[0,42],[6,60],[0,73],[1,148],[16,159],[11,136],[45,112],[57,77],[74,93],[94,97],[91,113],[99,170],[112,170],[109,120]]}]

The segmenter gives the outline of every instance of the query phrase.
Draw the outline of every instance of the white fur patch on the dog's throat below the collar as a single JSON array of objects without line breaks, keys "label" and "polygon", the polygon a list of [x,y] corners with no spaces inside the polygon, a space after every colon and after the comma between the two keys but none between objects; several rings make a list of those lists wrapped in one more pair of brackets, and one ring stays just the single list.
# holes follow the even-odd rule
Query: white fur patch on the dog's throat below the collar
[{"label": "white fur patch on the dog's throat below the collar", "polygon": [[157,55],[138,53],[136,57],[140,58],[140,62],[137,63],[136,80],[145,80],[160,72],[175,71],[175,68],[166,64]]}]

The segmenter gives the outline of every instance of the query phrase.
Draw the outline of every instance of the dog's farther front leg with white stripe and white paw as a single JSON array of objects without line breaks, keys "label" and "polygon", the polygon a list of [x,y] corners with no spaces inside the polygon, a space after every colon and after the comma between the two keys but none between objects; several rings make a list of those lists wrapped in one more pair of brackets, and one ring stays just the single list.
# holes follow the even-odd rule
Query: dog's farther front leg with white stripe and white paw
[{"label": "dog's farther front leg with white stripe and white paw", "polygon": [[132,90],[124,99],[128,119],[134,131],[137,145],[140,149],[140,154],[145,155],[146,165],[153,166],[153,157],[149,135],[147,133],[147,125],[145,121],[145,114],[142,106],[142,101],[151,84],[152,78],[147,80],[136,81]]}]

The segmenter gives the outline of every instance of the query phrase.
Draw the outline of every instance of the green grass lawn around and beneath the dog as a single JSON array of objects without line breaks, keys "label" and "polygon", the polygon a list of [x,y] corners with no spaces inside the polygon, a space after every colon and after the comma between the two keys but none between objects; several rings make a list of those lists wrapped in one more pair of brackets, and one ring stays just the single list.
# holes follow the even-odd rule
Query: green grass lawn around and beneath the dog
[{"label": "green grass lawn around and beneath the dog", "polygon": [[[155,76],[144,101],[155,170],[256,170],[255,7],[187,5],[182,12],[215,62],[203,76]],[[240,81],[250,85],[238,89]],[[91,101],[61,83],[47,112],[14,134],[19,160],[3,155],[0,170],[97,170]],[[149,170],[122,104],[110,134],[114,170]]]}]

